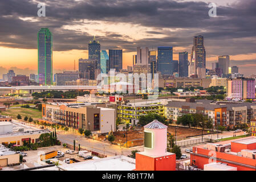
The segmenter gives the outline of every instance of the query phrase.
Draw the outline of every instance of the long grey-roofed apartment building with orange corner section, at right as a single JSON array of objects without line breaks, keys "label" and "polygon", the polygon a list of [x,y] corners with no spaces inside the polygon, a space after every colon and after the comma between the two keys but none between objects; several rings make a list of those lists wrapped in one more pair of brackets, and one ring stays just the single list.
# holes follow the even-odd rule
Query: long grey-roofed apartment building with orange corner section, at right
[{"label": "long grey-roofed apartment building with orange corner section, at right", "polygon": [[[213,125],[233,128],[241,123],[250,123],[256,118],[256,104],[249,102],[218,102],[213,100],[170,101],[165,105],[165,116],[173,121],[183,114],[201,113],[213,119]],[[218,123],[217,123],[218,122]]]}]

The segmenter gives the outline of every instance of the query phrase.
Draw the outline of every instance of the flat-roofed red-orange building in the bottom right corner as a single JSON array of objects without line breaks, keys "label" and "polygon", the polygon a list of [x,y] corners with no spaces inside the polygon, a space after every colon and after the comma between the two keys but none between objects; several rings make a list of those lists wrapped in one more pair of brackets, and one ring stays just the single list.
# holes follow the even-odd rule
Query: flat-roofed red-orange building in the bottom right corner
[{"label": "flat-roofed red-orange building in the bottom right corner", "polygon": [[237,171],[256,170],[256,137],[245,137],[193,147],[190,163],[204,169],[205,164],[224,163]]}]

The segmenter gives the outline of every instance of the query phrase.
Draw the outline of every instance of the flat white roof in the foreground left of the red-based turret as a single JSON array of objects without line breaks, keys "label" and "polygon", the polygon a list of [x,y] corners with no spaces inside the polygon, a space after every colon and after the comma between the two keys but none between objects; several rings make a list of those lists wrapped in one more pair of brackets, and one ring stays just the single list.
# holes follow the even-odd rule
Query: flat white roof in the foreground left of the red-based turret
[{"label": "flat white roof in the foreground left of the red-based turret", "polygon": [[66,171],[132,171],[136,168],[135,159],[124,155],[88,160],[58,167]]}]

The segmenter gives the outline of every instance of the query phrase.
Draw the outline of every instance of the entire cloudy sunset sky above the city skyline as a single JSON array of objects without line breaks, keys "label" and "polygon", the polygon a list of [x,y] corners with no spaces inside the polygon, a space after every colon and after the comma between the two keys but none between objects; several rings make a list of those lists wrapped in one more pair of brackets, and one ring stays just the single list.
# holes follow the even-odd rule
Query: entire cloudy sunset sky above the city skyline
[{"label": "entire cloudy sunset sky above the city skyline", "polygon": [[[38,17],[38,3],[46,3],[46,16]],[[217,4],[217,17],[209,17],[209,3]],[[218,55],[230,55],[230,64],[250,76],[256,73],[255,0],[63,0],[0,1],[0,73],[14,69],[37,72],[37,32],[53,34],[54,73],[78,69],[87,59],[88,42],[96,36],[101,49],[122,48],[123,68],[132,65],[136,47],[172,46],[191,53],[193,36],[205,40],[206,68]],[[190,56],[189,56],[190,57]]]}]

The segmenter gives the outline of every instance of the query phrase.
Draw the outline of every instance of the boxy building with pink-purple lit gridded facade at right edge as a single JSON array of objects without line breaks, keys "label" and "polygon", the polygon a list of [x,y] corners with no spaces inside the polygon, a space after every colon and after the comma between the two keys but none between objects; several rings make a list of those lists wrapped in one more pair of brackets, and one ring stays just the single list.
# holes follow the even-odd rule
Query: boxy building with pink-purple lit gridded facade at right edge
[{"label": "boxy building with pink-purple lit gridded facade at right edge", "polygon": [[246,100],[255,98],[254,78],[231,78],[227,82],[227,97]]}]

